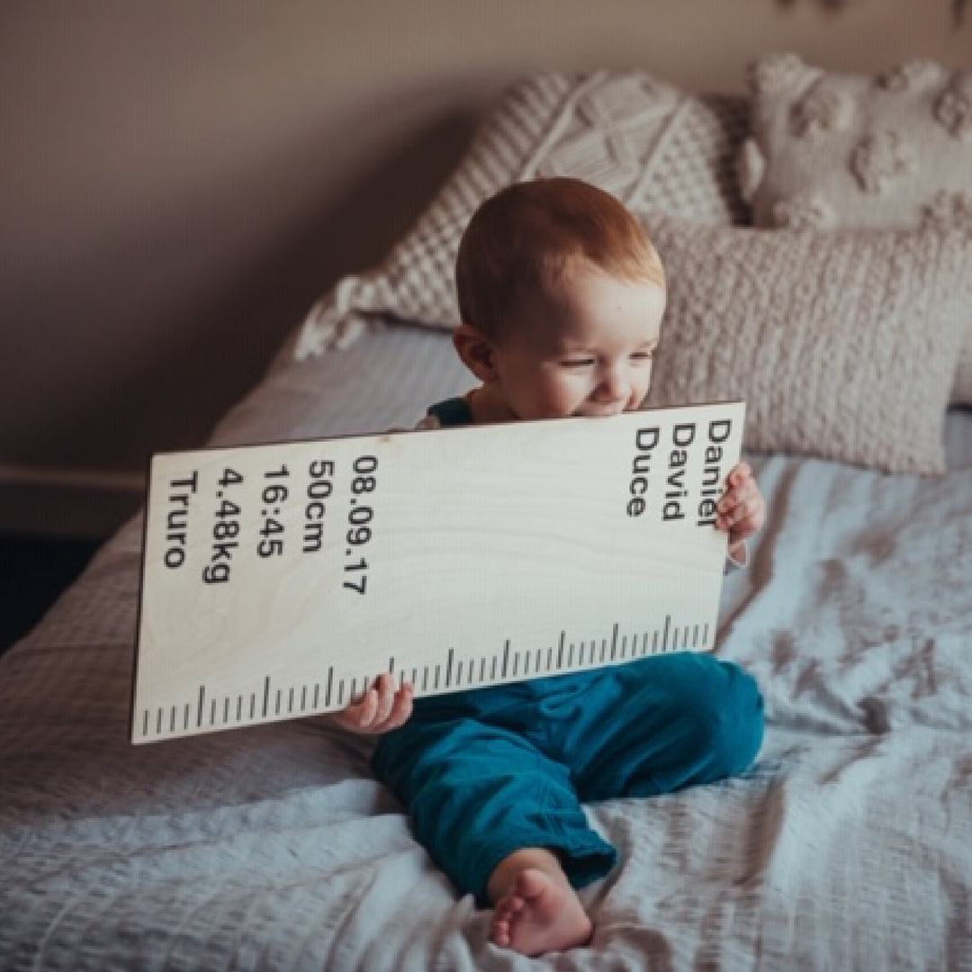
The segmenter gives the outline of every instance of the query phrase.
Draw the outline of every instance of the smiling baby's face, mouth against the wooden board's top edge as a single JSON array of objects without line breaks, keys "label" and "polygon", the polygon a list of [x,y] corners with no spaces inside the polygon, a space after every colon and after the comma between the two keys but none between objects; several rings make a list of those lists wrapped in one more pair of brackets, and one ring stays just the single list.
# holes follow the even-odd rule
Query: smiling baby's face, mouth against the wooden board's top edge
[{"label": "smiling baby's face, mouth against the wooden board's top edge", "polygon": [[657,284],[584,264],[557,294],[520,302],[495,349],[495,390],[521,419],[631,411],[647,395],[664,312]]}]

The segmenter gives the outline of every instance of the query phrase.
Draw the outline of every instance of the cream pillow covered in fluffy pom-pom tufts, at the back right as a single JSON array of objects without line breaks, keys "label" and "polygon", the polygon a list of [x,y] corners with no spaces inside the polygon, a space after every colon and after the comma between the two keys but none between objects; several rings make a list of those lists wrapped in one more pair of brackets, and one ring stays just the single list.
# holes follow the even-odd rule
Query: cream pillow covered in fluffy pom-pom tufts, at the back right
[{"label": "cream pillow covered in fluffy pom-pom tufts, at the back right", "polygon": [[[972,232],[972,71],[920,60],[870,77],[772,54],[749,82],[740,182],[756,226]],[[972,310],[952,400],[972,403]]]}]

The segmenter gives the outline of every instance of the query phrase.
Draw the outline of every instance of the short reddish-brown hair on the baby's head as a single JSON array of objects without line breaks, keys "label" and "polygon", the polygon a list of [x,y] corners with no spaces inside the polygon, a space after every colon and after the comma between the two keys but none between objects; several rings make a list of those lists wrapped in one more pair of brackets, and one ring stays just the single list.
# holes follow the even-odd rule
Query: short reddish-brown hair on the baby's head
[{"label": "short reddish-brown hair on the baby's head", "polygon": [[497,337],[521,295],[549,292],[578,258],[623,280],[665,287],[647,232],[609,192],[566,177],[508,186],[473,213],[459,244],[460,316]]}]

